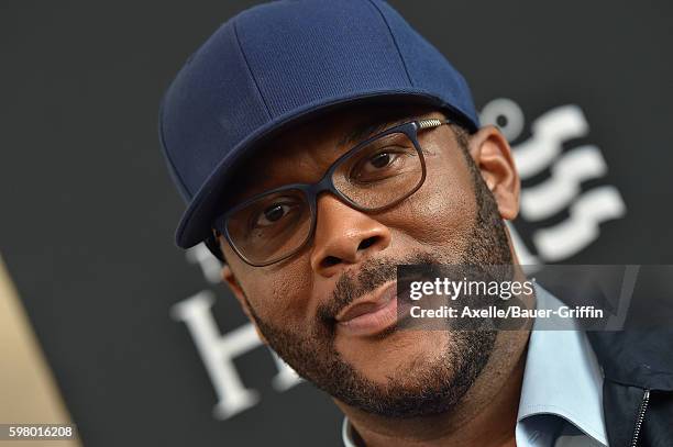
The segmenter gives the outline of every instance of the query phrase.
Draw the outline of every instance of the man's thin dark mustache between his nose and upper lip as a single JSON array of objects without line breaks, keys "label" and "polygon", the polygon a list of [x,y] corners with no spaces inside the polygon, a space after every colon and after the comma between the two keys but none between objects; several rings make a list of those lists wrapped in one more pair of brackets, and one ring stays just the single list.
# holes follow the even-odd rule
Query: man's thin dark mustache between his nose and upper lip
[{"label": "man's thin dark mustache between his nose and upper lip", "polygon": [[441,264],[441,258],[430,253],[415,253],[402,259],[367,259],[357,273],[346,271],[339,277],[329,302],[318,306],[318,319],[324,324],[334,324],[335,316],[353,301],[397,279],[397,266],[432,264]]}]

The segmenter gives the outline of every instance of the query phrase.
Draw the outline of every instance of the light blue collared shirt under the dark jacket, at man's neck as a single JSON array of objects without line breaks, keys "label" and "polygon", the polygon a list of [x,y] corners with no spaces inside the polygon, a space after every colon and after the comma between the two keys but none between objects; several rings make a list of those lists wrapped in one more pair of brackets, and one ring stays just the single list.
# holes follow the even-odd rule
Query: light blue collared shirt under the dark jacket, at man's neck
[{"label": "light blue collared shirt under the dark jacket, at man's neck", "polygon": [[[537,287],[537,309],[558,309],[559,299]],[[552,325],[555,322],[551,322]],[[536,320],[528,342],[516,426],[518,447],[607,447],[603,416],[603,373],[586,334],[572,320]],[[343,420],[345,447],[355,447]]]}]

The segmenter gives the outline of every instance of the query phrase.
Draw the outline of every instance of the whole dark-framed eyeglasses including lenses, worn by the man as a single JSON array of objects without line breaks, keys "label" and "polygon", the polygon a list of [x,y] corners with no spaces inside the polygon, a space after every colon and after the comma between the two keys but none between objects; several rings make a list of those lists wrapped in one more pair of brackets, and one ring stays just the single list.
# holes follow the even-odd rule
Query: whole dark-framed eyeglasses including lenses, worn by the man
[{"label": "whole dark-framed eyeglasses including lenses, worn by the man", "polygon": [[220,215],[213,227],[253,267],[285,260],[311,239],[320,193],[331,192],[355,210],[376,212],[416,192],[426,180],[418,132],[450,123],[430,119],[390,127],[339,157],[318,182],[256,194]]}]

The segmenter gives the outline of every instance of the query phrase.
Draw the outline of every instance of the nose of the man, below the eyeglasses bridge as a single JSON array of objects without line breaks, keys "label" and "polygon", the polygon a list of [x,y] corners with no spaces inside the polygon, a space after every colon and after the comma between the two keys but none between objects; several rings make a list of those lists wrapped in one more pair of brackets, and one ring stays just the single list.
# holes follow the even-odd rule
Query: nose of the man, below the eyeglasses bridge
[{"label": "nose of the man, below the eyeglasses bridge", "polygon": [[311,268],[331,277],[390,245],[390,230],[334,195],[318,198]]}]

